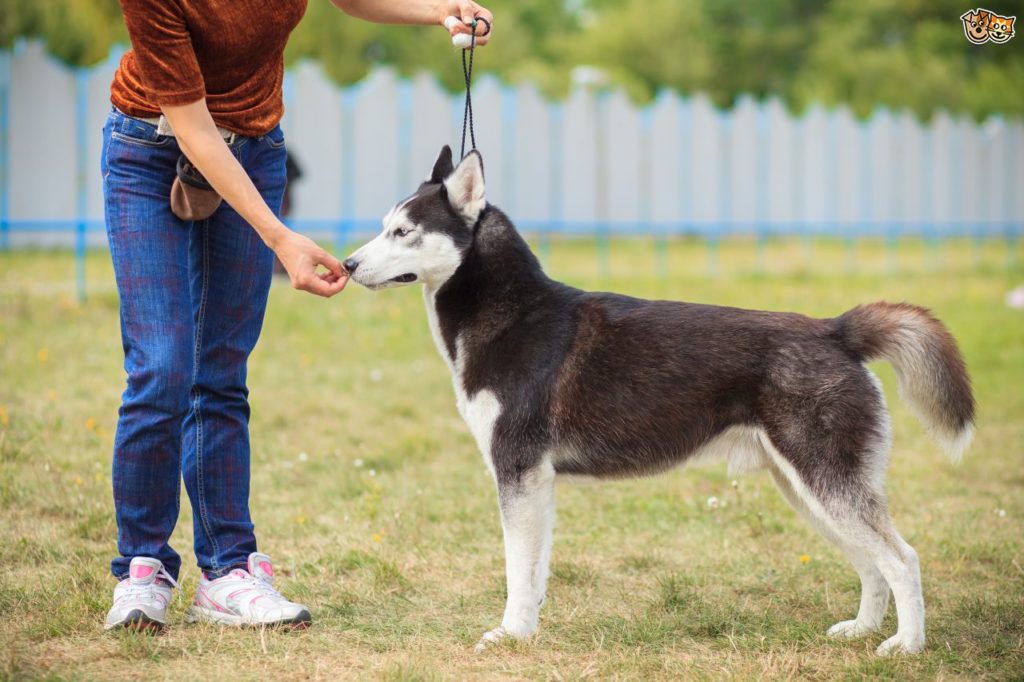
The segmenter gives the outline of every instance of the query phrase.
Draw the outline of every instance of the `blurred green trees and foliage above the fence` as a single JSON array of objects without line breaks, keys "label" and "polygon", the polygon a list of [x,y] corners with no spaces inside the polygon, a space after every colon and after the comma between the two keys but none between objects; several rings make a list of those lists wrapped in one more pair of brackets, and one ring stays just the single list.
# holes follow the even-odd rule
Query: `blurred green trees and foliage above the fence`
[{"label": "blurred green trees and foliage above the fence", "polygon": [[[638,101],[658,89],[703,91],[723,106],[739,94],[847,104],[937,110],[981,119],[1024,114],[1024,41],[972,45],[959,15],[967,0],[490,0],[497,40],[479,58],[506,82],[529,80],[563,96],[572,71],[598,67]],[[1021,0],[989,0],[1024,15]],[[118,0],[0,0],[0,44],[40,37],[72,65],[104,59],[127,44]],[[375,26],[343,16],[328,0],[309,8],[288,59],[318,60],[340,83],[377,63],[427,70],[449,88],[461,73],[433,28]]]}]

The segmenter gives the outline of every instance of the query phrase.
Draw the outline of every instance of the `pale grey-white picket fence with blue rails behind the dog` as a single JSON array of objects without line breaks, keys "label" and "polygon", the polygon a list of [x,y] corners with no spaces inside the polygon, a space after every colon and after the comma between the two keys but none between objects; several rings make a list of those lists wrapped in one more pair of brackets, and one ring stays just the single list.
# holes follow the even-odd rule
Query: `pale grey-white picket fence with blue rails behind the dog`
[{"label": "pale grey-white picket fence with blue rails behind the dog", "polygon": [[[118,55],[71,70],[39,43],[0,52],[0,238],[102,241],[100,128]],[[457,68],[453,54],[453,68]],[[378,70],[346,88],[312,62],[286,77],[283,126],[304,171],[294,224],[376,231],[444,143],[462,95]],[[1010,237],[1024,230],[1024,122],[880,110],[795,116],[776,100],[722,111],[664,92],[638,106],[577,89],[474,84],[488,199],[525,231]],[[67,237],[65,238],[67,239]]]}]

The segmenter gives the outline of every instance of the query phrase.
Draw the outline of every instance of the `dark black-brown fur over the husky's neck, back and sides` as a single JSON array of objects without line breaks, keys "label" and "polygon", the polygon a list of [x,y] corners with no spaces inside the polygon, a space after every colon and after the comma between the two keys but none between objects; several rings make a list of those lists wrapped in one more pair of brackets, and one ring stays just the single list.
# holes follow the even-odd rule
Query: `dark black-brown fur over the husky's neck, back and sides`
[{"label": "dark black-brown fur over the husky's neck, back and sides", "polygon": [[[443,191],[434,199],[436,211]],[[410,208],[422,220],[418,210],[427,209]],[[515,480],[545,456],[559,473],[654,473],[749,425],[811,487],[835,489],[884,437],[881,396],[844,317],[584,292],[548,278],[490,205],[460,238],[464,258],[436,309],[450,357],[466,355],[466,394],[487,389],[503,406],[493,454],[500,479]],[[955,346],[952,355],[959,361]],[[969,406],[963,426],[973,418],[969,386],[959,403]]]}]

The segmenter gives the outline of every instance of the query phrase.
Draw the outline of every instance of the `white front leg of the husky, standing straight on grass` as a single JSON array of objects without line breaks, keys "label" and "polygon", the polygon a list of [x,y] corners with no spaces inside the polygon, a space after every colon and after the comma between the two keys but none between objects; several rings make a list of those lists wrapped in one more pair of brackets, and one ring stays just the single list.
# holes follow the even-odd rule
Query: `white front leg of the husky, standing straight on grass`
[{"label": "white front leg of the husky, standing straight on grass", "polygon": [[501,627],[484,633],[476,645],[477,651],[504,637],[528,637],[537,631],[551,561],[555,525],[554,468],[544,462],[516,480],[503,481],[501,474],[498,478],[508,601]]}]

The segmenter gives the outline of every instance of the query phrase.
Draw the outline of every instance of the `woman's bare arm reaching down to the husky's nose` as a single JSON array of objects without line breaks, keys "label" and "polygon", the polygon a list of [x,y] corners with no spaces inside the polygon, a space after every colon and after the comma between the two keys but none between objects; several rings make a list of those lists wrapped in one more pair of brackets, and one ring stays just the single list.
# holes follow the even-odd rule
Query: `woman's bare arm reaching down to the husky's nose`
[{"label": "woman's bare arm reaching down to the husky's nose", "polygon": [[[178,145],[224,201],[246,219],[281,258],[292,286],[319,296],[334,296],[348,282],[337,258],[307,237],[285,226],[263,201],[242,164],[234,158],[207,109],[206,99],[162,105]],[[317,272],[318,265],[328,269]]]}]

